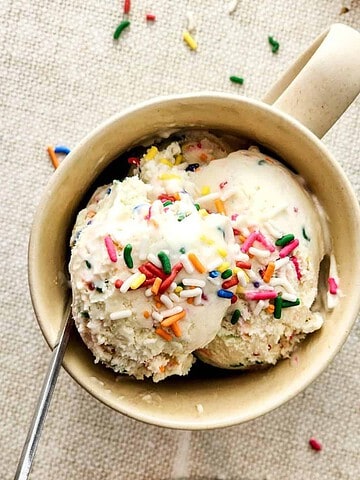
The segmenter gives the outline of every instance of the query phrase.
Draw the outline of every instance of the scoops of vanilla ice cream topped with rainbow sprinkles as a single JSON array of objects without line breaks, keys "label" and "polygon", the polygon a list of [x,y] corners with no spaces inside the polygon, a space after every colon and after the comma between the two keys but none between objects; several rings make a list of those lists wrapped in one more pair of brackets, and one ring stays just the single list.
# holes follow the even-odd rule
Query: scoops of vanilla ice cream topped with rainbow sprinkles
[{"label": "scoops of vanilla ice cream topped with rainbow sprinkles", "polygon": [[312,305],[328,235],[296,175],[210,134],[131,163],[71,238],[74,319],[96,361],[154,381],[187,374],[194,354],[247,368],[321,327]]}]

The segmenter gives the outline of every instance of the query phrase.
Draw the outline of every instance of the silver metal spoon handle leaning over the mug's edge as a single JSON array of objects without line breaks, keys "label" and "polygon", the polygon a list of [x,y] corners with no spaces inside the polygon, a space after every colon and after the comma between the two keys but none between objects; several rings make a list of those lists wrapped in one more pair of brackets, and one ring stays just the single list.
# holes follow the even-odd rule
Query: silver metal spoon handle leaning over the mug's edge
[{"label": "silver metal spoon handle leaning over the mug's edge", "polygon": [[73,321],[69,302],[69,305],[66,309],[66,315],[64,316],[64,325],[60,330],[59,338],[57,339],[51,355],[50,364],[44,378],[38,403],[36,405],[31,425],[23,446],[23,450],[21,452],[14,480],[26,480],[29,478],[36,449],[40,440],[41,431],[44,426],[46,414],[49,409],[51,397],[54,392],[56,380],[59,374],[66,346],[69,341],[72,326]]}]

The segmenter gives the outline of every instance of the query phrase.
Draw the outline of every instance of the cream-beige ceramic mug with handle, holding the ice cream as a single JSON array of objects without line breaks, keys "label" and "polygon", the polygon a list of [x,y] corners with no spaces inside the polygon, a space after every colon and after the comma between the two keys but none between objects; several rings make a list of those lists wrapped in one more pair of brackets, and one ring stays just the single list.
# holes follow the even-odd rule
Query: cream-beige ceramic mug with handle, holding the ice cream
[{"label": "cream-beige ceramic mug with handle, holding the ice cream", "polygon": [[298,171],[330,223],[344,297],[320,331],[297,350],[298,362],[249,373],[172,377],[158,384],[95,365],[74,332],[64,366],[96,398],[156,425],[206,429],[234,425],[292,398],[329,364],[360,305],[360,214],[351,186],[321,138],[360,91],[360,34],[333,25],[280,78],[263,102],[199,93],[159,98],[125,110],[88,135],[45,190],[29,245],[29,281],[36,316],[52,346],[69,297],[69,237],[85,192],[121,153],[143,139],[191,127],[225,131],[270,148]]}]

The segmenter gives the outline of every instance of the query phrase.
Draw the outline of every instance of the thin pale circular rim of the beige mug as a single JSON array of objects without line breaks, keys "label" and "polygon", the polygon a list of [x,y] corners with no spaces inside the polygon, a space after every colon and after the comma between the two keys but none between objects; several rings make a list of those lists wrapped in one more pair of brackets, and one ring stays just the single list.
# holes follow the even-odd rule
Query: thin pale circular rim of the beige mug
[{"label": "thin pale circular rim of the beige mug", "polygon": [[[316,137],[314,133],[312,133],[308,128],[306,128],[304,125],[302,125],[299,121],[297,121],[295,118],[291,117],[287,113],[284,113],[271,105],[265,104],[259,100],[255,99],[250,99],[247,97],[242,97],[239,95],[235,94],[228,94],[228,93],[222,93],[222,92],[215,92],[215,91],[202,91],[202,92],[193,92],[189,94],[175,94],[175,95],[166,95],[166,96],[160,96],[160,97],[154,97],[149,100],[136,103],[133,106],[127,107],[125,109],[122,109],[120,112],[112,115],[102,123],[100,123],[97,127],[95,127],[93,130],[91,130],[79,143],[78,145],[71,151],[71,153],[66,157],[66,159],[63,161],[63,164],[60,164],[60,167],[56,170],[56,172],[50,177],[49,182],[45,186],[45,189],[43,191],[43,194],[40,198],[39,205],[36,209],[35,215],[34,215],[34,220],[33,224],[31,227],[31,232],[30,232],[30,238],[29,238],[29,244],[28,244],[28,282],[29,282],[29,288],[30,288],[30,296],[31,296],[31,301],[33,305],[33,309],[35,312],[35,316],[37,319],[37,322],[39,324],[40,330],[42,332],[42,335],[44,336],[46,342],[48,343],[49,347],[52,349],[54,342],[51,339],[51,335],[49,332],[49,329],[47,329],[47,325],[49,322],[46,321],[46,319],[43,318],[42,313],[41,313],[41,298],[40,295],[37,295],[36,292],[36,283],[38,281],[38,278],[36,276],[36,268],[34,267],[36,263],[36,255],[37,255],[37,239],[41,236],[41,225],[45,221],[46,218],[46,209],[44,208],[44,201],[46,198],[51,194],[53,189],[56,189],[62,181],[66,178],[66,173],[71,170],[75,165],[77,158],[81,155],[82,150],[84,147],[86,147],[89,143],[92,141],[96,141],[97,136],[99,136],[101,133],[106,132],[106,130],[116,123],[117,121],[121,119],[125,119],[128,115],[132,114],[139,114],[141,110],[146,109],[146,108],[155,108],[159,104],[166,104],[168,102],[174,102],[174,101],[181,101],[181,100],[192,100],[194,103],[196,103],[196,100],[204,101],[206,99],[220,99],[220,100],[226,100],[226,101],[235,101],[235,102],[240,102],[240,103],[247,103],[250,105],[255,106],[256,108],[266,110],[270,115],[273,115],[274,117],[280,117],[282,120],[285,120],[287,123],[292,124],[293,127],[295,127],[297,130],[300,130],[303,134],[308,136],[310,140],[315,143],[316,148],[320,149],[325,156],[327,157],[327,161],[329,161],[332,165],[332,168],[336,169],[337,175],[340,177],[341,184],[344,186],[344,188],[347,191],[347,195],[349,196],[349,199],[351,199],[351,202],[354,206],[353,214],[357,218],[358,224],[360,224],[360,208],[359,204],[357,203],[356,196],[353,190],[353,187],[348,180],[347,176],[345,175],[343,169],[341,166],[338,164],[336,159],[332,156],[332,154],[329,152],[327,147],[323,144],[323,142]],[[88,185],[90,186],[90,185]],[[71,293],[69,293],[71,294]],[[355,302],[353,308],[352,308],[352,321],[351,323],[349,322],[350,328],[354,324],[356,320],[357,313],[360,308],[360,295],[357,297],[357,301]],[[349,315],[350,319],[350,315]],[[327,366],[331,363],[335,355],[339,352],[341,347],[343,346],[347,336],[350,333],[350,328],[342,329],[342,334],[337,337],[337,341],[335,343],[335,348],[333,344],[333,348],[329,352],[329,354],[324,357],[322,363],[320,366],[318,365],[316,369],[313,369],[311,371],[312,375],[308,375],[306,378],[306,381],[304,381],[301,385],[299,385],[299,388],[294,389],[291,391],[290,394],[287,395],[279,395],[277,397],[276,402],[272,402],[270,406],[267,406],[263,408],[260,412],[254,413],[253,415],[248,415],[245,416],[244,418],[242,417],[240,420],[236,421],[234,419],[221,419],[219,418],[216,422],[208,422],[207,424],[198,424],[198,423],[191,423],[191,422],[183,422],[183,424],[179,425],[177,422],[171,421],[170,418],[168,418],[167,421],[165,420],[158,420],[156,418],[149,417],[148,415],[144,415],[141,412],[141,408],[134,408],[134,409],[119,409],[118,406],[115,404],[115,402],[109,401],[107,398],[105,398],[104,395],[99,395],[99,392],[96,390],[96,388],[90,388],[89,384],[84,381],[84,378],[81,374],[75,373],[74,369],[71,366],[71,362],[68,361],[66,355],[64,357],[64,362],[63,366],[66,369],[66,371],[70,374],[70,376],[79,384],[81,385],[88,393],[90,393],[93,397],[96,399],[100,400],[102,403],[105,405],[109,406],[110,408],[114,409],[117,412],[120,412],[126,416],[129,416],[131,418],[134,418],[136,420],[140,420],[142,422],[152,424],[152,425],[157,425],[161,427],[168,427],[168,428],[176,428],[176,429],[191,429],[191,430],[205,430],[205,429],[212,429],[212,428],[222,428],[222,427],[227,427],[231,425],[235,425],[237,423],[242,423],[245,421],[252,420],[254,418],[257,418],[259,416],[264,415],[265,413],[268,413],[269,411],[277,408],[278,406],[286,403],[288,400],[291,398],[295,397],[300,391],[304,390],[307,386],[309,386],[324,370],[327,368]]]}]

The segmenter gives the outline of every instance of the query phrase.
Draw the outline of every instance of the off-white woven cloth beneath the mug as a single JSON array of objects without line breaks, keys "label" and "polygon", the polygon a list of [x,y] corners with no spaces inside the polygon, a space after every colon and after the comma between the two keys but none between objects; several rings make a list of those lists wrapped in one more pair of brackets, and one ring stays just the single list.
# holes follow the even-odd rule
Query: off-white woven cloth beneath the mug
[{"label": "off-white woven cloth beneath the mug", "polygon": [[[33,315],[27,242],[52,174],[48,144],[70,147],[122,108],[204,89],[261,98],[327,26],[360,24],[360,3],[338,0],[133,0],[130,29],[112,34],[122,2],[2,0],[0,38],[0,477],[12,478],[50,352]],[[193,11],[199,50],[181,40]],[[147,24],[145,13],[156,14]],[[280,42],[273,55],[268,34]],[[229,75],[245,78],[243,86]],[[360,102],[325,144],[360,193]],[[345,234],[345,232],[344,232]],[[332,365],[276,411],[208,432],[147,426],[102,405],[60,373],[31,478],[305,480],[360,478],[360,329]],[[315,452],[308,439],[324,449]]]}]

